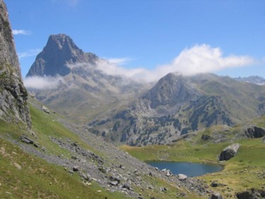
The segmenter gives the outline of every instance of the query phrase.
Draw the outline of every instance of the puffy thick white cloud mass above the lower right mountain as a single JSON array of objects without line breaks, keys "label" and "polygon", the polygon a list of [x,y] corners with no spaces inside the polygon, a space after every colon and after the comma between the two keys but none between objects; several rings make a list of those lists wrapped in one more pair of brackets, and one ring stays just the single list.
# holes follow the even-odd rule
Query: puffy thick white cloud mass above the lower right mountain
[{"label": "puffy thick white cloud mass above the lower right mountain", "polygon": [[254,64],[250,56],[223,56],[220,48],[212,48],[207,44],[196,45],[184,49],[171,64],[156,68],[158,73],[179,72],[185,76],[196,73],[212,73],[225,68],[237,68]]}]

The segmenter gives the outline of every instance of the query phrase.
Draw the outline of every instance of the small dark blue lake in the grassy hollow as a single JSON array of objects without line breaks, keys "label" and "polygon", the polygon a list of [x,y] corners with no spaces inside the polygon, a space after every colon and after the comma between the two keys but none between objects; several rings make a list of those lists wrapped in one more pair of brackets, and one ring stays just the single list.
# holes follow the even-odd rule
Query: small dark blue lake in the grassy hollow
[{"label": "small dark blue lake in the grassy hollow", "polygon": [[158,167],[158,169],[170,169],[172,174],[185,174],[186,176],[202,176],[208,173],[214,173],[223,170],[223,166],[220,164],[200,164],[189,162],[155,162],[148,161],[152,167]]}]

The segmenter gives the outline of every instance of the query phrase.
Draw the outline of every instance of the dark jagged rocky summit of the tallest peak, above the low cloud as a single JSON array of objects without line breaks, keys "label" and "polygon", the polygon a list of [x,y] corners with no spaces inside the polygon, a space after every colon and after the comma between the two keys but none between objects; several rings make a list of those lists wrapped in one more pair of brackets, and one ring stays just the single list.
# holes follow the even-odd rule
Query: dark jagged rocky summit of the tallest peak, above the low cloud
[{"label": "dark jagged rocky summit of the tallest peak, above the low cloud", "polygon": [[42,52],[30,67],[29,76],[66,76],[71,72],[67,64],[95,64],[98,56],[79,49],[71,37],[65,34],[50,35]]}]

